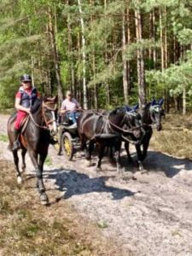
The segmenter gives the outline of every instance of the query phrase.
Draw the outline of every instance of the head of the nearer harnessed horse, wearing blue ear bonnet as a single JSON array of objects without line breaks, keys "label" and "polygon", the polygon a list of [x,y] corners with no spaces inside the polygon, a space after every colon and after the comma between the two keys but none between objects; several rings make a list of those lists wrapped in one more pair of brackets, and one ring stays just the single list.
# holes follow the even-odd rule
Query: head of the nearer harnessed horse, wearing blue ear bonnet
[{"label": "head of the nearer harnessed horse, wearing blue ear bonnet", "polygon": [[125,106],[125,127],[128,131],[132,131],[132,134],[137,139],[142,137],[142,117],[137,112],[138,104],[134,107]]}]

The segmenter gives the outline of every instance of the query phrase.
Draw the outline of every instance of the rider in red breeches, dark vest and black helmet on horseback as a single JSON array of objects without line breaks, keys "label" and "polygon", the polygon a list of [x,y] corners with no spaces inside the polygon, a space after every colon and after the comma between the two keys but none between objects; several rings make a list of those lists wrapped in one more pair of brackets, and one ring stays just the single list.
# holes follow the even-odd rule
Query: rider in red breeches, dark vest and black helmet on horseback
[{"label": "rider in red breeches, dark vest and black helmet on horseback", "polygon": [[13,150],[20,148],[20,126],[22,121],[30,113],[30,109],[34,102],[40,97],[38,90],[35,87],[32,87],[32,78],[30,75],[22,75],[20,77],[20,83],[20,89],[15,96],[15,108],[17,110],[17,115],[15,119],[15,142],[13,144]]}]

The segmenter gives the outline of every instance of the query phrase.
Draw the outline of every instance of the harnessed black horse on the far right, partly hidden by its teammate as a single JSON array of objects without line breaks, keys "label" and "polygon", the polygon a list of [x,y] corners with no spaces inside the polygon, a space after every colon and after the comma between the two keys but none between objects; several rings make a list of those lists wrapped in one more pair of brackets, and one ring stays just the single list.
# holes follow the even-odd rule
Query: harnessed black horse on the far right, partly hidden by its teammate
[{"label": "harnessed black horse on the far right, partly hidden by its teammate", "polygon": [[[153,134],[153,126],[156,128],[157,131],[160,131],[162,129],[161,117],[165,115],[164,109],[162,109],[162,104],[163,99],[157,102],[155,100],[153,102],[149,102],[143,108],[143,113],[141,113],[144,136],[141,142],[136,144],[136,150],[139,170],[142,172],[144,171],[143,160],[145,160],[145,158],[147,157],[148,145],[150,142],[150,138]],[[125,141],[125,150],[128,156],[128,160],[132,161],[128,141]]]}]

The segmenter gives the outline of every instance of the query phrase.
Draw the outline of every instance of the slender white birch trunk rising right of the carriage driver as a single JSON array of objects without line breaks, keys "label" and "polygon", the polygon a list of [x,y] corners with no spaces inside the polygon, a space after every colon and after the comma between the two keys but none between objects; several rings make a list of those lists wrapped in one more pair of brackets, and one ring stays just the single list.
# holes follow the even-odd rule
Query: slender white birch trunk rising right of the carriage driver
[{"label": "slender white birch trunk rising right of the carriage driver", "polygon": [[84,93],[84,109],[88,108],[87,105],[87,85],[86,85],[86,54],[85,54],[85,34],[84,34],[84,18],[81,1],[78,0],[80,24],[81,24],[81,40],[82,40],[82,56],[83,56],[83,93]]}]

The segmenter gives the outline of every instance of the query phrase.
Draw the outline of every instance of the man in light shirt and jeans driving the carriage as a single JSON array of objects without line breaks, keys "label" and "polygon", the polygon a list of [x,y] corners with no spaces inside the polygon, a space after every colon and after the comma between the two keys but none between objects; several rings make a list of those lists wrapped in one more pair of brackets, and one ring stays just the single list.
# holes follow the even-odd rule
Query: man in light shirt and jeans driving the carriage
[{"label": "man in light shirt and jeans driving the carriage", "polygon": [[69,119],[72,122],[72,125],[77,124],[77,119],[79,117],[78,111],[82,110],[79,102],[73,98],[71,90],[67,90],[66,99],[61,104],[61,115],[63,119]]}]

